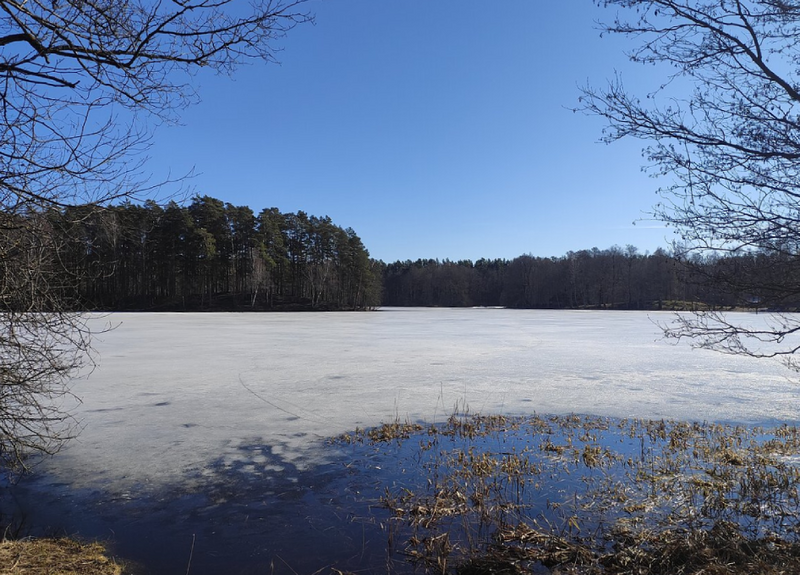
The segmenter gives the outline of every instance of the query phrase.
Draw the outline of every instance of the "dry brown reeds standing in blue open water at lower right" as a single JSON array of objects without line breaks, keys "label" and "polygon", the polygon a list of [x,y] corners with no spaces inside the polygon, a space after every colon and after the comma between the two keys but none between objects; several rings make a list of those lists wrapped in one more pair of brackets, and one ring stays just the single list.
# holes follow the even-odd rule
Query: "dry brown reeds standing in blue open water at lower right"
[{"label": "dry brown reeds standing in blue open water at lower right", "polygon": [[800,573],[795,427],[454,415],[339,441],[404,458],[384,528],[424,572]]}]

